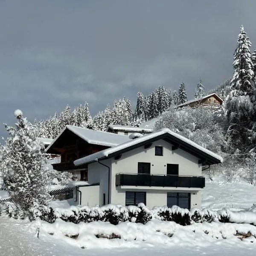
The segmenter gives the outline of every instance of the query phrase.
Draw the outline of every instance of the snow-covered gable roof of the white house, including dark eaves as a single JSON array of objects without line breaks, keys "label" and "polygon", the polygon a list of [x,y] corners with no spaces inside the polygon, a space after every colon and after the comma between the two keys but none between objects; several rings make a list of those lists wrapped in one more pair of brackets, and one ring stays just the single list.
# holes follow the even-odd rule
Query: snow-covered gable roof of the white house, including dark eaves
[{"label": "snow-covered gable roof of the white house, including dark eaves", "polygon": [[[144,135],[142,137],[136,138],[134,140],[130,140],[126,143],[122,143],[113,148],[108,148],[97,153],[88,155],[86,157],[82,157],[78,160],[74,161],[75,166],[79,166],[85,163],[96,162],[100,159],[106,159],[108,157],[112,157],[116,154],[120,154],[121,152],[128,151],[129,149],[139,147],[141,145],[145,145],[148,141],[159,140],[164,137],[169,137],[169,140],[173,141],[175,144],[180,144],[180,148],[183,150],[189,151],[191,154],[196,154],[200,156],[208,157],[211,163],[222,163],[223,158],[218,154],[209,151],[208,149],[196,144],[195,142],[171,131],[168,128],[163,128],[161,130],[155,131],[151,134]],[[172,143],[172,142],[171,142]],[[182,144],[182,146],[181,146]],[[209,163],[210,163],[209,162]]]}]

